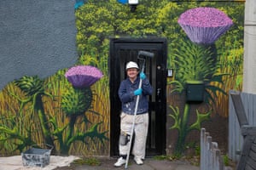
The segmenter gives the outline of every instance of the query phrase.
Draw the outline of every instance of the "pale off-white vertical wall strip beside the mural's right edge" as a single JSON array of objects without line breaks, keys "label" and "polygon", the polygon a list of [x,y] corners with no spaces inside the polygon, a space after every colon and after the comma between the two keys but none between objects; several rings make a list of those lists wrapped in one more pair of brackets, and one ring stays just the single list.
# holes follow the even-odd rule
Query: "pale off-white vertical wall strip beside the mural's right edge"
[{"label": "pale off-white vertical wall strip beside the mural's right edge", "polygon": [[256,94],[256,1],[246,0],[242,92]]}]

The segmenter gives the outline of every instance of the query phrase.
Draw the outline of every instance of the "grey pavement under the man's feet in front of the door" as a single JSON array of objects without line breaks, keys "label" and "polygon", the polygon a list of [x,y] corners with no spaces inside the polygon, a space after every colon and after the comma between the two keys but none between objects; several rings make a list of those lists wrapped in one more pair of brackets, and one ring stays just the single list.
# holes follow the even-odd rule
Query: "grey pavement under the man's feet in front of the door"
[{"label": "grey pavement under the man's feet in front of the door", "polygon": [[131,158],[127,168],[125,165],[122,167],[113,167],[116,158],[99,158],[100,165],[78,165],[71,164],[69,167],[59,167],[55,170],[200,170],[200,167],[191,165],[189,161],[168,161],[168,160],[155,160],[154,158],[146,158],[143,165],[137,165]]}]

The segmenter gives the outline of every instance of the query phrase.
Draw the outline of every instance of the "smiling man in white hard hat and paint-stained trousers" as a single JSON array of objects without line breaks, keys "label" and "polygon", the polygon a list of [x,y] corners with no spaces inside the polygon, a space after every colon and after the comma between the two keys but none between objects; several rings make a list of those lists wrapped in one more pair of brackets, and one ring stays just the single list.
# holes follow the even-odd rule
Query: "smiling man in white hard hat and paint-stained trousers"
[{"label": "smiling man in white hard hat and paint-stained trousers", "polygon": [[[122,102],[122,112],[120,115],[120,138],[119,138],[119,159],[114,163],[115,167],[121,167],[125,164],[125,160],[129,151],[129,137],[135,113],[137,95],[139,102],[137,106],[137,116],[134,126],[134,144],[132,154],[134,161],[138,165],[143,165],[143,159],[146,152],[146,141],[148,135],[148,99],[147,95],[153,93],[153,88],[148,78],[143,72],[139,74],[137,63],[130,61],[126,67],[127,78],[120,83],[119,99]],[[139,77],[138,77],[139,75]],[[139,88],[139,82],[142,79],[142,88]],[[125,140],[124,140],[125,139]]]}]

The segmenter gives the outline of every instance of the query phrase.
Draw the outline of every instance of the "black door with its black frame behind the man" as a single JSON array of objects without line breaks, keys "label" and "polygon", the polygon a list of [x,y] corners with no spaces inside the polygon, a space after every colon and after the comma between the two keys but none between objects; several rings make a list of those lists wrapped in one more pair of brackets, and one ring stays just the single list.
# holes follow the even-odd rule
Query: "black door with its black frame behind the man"
[{"label": "black door with its black frame behind the man", "polygon": [[149,96],[149,128],[147,156],[166,153],[166,48],[164,38],[113,38],[110,41],[110,155],[119,155],[119,114],[121,103],[118,96],[119,83],[125,79],[125,64],[137,59],[138,51],[154,53],[154,58],[146,58],[145,74],[154,88]]}]

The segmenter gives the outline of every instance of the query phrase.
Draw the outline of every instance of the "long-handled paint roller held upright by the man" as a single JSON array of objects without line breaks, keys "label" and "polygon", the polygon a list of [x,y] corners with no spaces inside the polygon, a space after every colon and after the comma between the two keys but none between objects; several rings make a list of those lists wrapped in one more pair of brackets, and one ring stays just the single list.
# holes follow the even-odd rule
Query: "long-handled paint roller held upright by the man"
[{"label": "long-handled paint roller held upright by the man", "polygon": [[[143,55],[143,56],[146,56],[146,57],[151,57],[151,58],[154,57],[153,53],[149,53],[147,51],[139,51],[138,54],[137,54],[137,59],[142,59],[142,58],[140,58],[140,55]],[[142,68],[141,72],[144,72],[145,59],[142,59],[142,60],[143,60],[143,68]],[[142,88],[142,85],[143,85],[143,79],[141,78],[140,82],[139,82],[139,87],[138,88]],[[126,160],[125,160],[125,169],[128,166],[128,161],[129,161],[129,157],[130,157],[131,141],[132,141],[132,137],[133,137],[133,133],[134,133],[133,131],[134,131],[134,127],[135,127],[135,120],[136,120],[136,116],[137,116],[137,107],[138,107],[139,100],[140,100],[140,95],[137,95],[136,105],[135,105],[135,110],[134,110],[134,116],[133,116],[132,126],[131,126],[129,148],[128,148],[128,153],[127,153]]]}]

